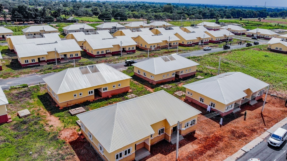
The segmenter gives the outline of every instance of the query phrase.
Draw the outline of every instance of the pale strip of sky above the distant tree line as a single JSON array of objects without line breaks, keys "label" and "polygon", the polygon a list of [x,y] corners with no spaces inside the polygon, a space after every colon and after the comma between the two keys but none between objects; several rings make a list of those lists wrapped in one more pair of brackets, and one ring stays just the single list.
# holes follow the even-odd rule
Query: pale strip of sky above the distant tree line
[{"label": "pale strip of sky above the distant tree line", "polygon": [[[116,1],[116,0],[108,0]],[[122,1],[122,0],[119,0]],[[124,0],[124,1],[135,1],[135,0]],[[136,0],[136,1],[149,1],[149,2],[166,2],[166,3],[177,3],[179,0]],[[180,3],[201,3],[201,4],[219,4],[219,5],[239,5],[239,6],[264,6],[266,7],[287,7],[286,0],[215,0],[215,1],[200,1],[200,0],[180,0]]]}]

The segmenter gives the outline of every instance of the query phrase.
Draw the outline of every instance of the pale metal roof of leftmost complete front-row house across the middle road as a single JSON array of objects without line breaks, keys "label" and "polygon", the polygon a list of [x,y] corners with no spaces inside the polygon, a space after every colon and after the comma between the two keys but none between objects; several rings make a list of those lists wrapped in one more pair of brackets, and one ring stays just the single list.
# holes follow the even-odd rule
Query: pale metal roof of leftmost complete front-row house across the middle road
[{"label": "pale metal roof of leftmost complete front-row house across the middle road", "polygon": [[51,44],[37,45],[35,43],[30,43],[30,44],[14,45],[14,49],[17,52],[17,55],[19,58],[47,55],[47,52],[55,51],[55,48],[58,53],[82,51],[82,49],[80,48],[80,46],[77,44],[77,42],[74,39],[58,40],[55,43],[51,43]]}]

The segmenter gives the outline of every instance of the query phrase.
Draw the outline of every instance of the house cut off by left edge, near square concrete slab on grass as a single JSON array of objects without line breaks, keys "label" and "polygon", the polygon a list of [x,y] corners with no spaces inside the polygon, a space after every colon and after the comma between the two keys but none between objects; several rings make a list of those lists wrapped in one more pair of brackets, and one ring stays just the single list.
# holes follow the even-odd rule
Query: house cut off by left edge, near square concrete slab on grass
[{"label": "house cut off by left edge, near square concrete slab on grass", "polygon": [[0,124],[12,122],[11,116],[9,116],[7,114],[6,104],[8,104],[8,103],[9,102],[8,102],[2,88],[0,88]]}]

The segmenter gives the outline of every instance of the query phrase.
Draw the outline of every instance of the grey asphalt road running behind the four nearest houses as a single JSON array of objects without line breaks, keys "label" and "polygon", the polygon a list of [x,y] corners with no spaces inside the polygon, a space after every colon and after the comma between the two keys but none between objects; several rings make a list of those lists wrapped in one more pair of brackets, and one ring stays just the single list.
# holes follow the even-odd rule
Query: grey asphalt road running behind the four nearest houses
[{"label": "grey asphalt road running behind the four nearest houses", "polygon": [[[239,49],[239,48],[243,48],[243,47],[245,47],[245,44],[244,45],[231,46],[231,49]],[[224,50],[222,48],[215,48],[215,49],[212,49],[210,51],[199,50],[199,51],[192,51],[189,53],[181,53],[179,55],[181,55],[183,57],[200,56],[200,55],[205,55],[208,53],[214,53],[214,52],[218,52],[218,51],[224,51]],[[147,59],[139,59],[136,61],[140,62],[140,61],[144,61],[144,60],[147,60]],[[107,63],[107,65],[110,65],[111,67],[118,69],[118,70],[124,70],[127,68],[127,66],[125,66],[124,62],[116,63],[116,64]],[[52,75],[52,74],[53,73],[47,73],[47,74],[43,74],[43,75],[28,74],[28,75],[21,75],[21,77],[19,77],[19,78],[0,79],[0,86],[3,90],[6,90],[10,86],[17,86],[20,84],[28,84],[30,86],[30,85],[35,85],[35,84],[39,84],[39,83],[44,83],[42,78],[47,77],[47,76]]]}]

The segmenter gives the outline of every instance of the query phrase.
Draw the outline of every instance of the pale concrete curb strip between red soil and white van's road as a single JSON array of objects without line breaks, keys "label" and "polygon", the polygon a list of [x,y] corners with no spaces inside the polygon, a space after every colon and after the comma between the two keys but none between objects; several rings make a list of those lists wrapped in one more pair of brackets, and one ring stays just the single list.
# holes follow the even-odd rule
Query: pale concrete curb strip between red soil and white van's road
[{"label": "pale concrete curb strip between red soil and white van's road", "polygon": [[254,140],[250,141],[248,144],[243,146],[240,150],[238,150],[236,153],[232,154],[228,158],[226,158],[224,161],[236,161],[238,158],[243,156],[246,152],[249,152],[251,149],[253,149],[255,146],[257,146],[259,143],[261,143],[268,135],[273,133],[276,129],[279,127],[283,127],[287,124],[287,117],[283,120],[276,123],[274,126],[272,126],[270,129],[265,131],[263,134],[261,134],[259,137],[256,137]]}]

